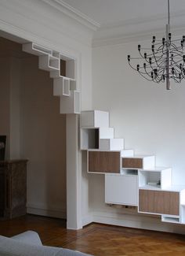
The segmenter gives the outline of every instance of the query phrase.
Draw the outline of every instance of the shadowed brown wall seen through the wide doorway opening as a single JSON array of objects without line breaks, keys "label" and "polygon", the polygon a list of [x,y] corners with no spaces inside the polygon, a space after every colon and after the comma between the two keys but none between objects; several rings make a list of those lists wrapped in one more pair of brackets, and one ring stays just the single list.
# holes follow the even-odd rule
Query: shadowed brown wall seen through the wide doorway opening
[{"label": "shadowed brown wall seen through the wide doorway opening", "polygon": [[[49,72],[21,45],[0,40],[0,133],[8,137],[7,158],[27,158],[27,206],[34,213],[66,213],[66,116],[53,96]],[[7,49],[8,48],[8,49]],[[5,63],[5,65],[4,65]],[[4,66],[3,66],[4,65]],[[2,69],[3,67],[3,69]],[[8,71],[7,71],[8,70]],[[36,211],[36,212],[35,212]]]}]

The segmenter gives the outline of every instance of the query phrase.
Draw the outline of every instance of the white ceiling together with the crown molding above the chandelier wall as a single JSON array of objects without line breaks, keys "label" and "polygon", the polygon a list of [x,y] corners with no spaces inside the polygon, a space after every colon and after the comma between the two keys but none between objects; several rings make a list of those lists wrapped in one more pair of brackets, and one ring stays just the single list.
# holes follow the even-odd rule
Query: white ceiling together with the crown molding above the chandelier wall
[{"label": "white ceiling together with the crown molding above the chandelier wall", "polygon": [[[58,0],[96,24],[96,46],[165,32],[168,0]],[[185,0],[170,0],[173,35],[185,34]],[[171,30],[172,30],[171,29]],[[160,34],[161,33],[161,34]]]}]

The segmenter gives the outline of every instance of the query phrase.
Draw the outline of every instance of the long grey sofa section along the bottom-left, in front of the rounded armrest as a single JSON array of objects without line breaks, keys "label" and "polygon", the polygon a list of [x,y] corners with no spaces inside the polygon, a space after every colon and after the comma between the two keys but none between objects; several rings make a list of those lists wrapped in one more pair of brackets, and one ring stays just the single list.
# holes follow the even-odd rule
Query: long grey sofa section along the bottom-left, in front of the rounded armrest
[{"label": "long grey sofa section along the bottom-left, in front of the rounded armrest", "polygon": [[59,247],[45,247],[19,240],[0,236],[1,256],[85,256],[76,250],[67,250]]}]

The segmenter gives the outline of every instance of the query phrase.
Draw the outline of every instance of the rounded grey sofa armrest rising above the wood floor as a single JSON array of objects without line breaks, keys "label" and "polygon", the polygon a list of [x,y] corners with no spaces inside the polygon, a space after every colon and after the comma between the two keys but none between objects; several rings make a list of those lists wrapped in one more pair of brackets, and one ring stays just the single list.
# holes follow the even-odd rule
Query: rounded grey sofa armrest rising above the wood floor
[{"label": "rounded grey sofa armrest rising above the wood floor", "polygon": [[20,233],[19,235],[16,236],[12,236],[12,239],[19,240],[20,242],[23,243],[42,245],[42,241],[38,236],[38,233],[31,230],[26,231],[24,233]]}]

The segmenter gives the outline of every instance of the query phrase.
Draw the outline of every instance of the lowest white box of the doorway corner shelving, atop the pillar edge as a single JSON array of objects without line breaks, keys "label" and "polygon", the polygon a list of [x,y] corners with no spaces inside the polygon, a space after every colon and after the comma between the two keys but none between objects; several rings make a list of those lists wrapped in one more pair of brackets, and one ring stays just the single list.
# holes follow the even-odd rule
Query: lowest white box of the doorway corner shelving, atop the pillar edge
[{"label": "lowest white box of the doorway corner shelving, atop the pillar edge", "polygon": [[60,113],[80,113],[80,92],[71,91],[69,97],[60,96]]}]

